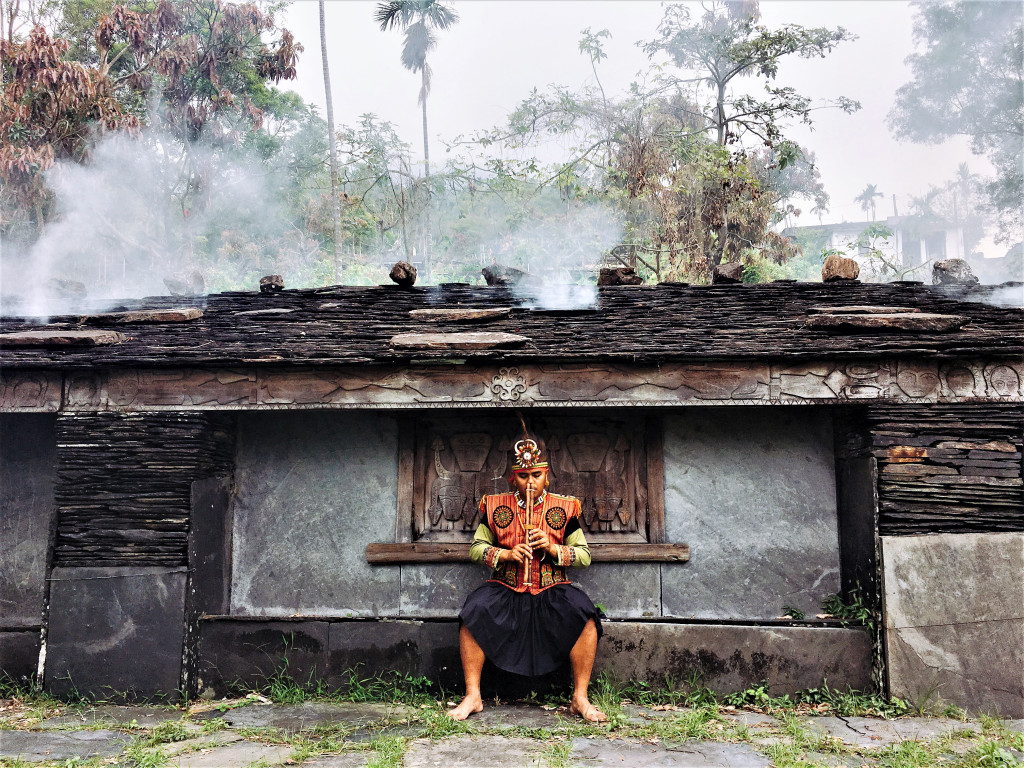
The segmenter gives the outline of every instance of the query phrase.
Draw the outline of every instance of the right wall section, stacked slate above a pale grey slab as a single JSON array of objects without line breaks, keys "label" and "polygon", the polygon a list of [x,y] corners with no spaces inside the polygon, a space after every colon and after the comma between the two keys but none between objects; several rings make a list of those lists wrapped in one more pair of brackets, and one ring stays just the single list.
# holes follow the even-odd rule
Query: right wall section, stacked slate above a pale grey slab
[{"label": "right wall section, stacked slate above a pale grey slab", "polygon": [[1024,408],[868,419],[891,692],[1024,717]]}]

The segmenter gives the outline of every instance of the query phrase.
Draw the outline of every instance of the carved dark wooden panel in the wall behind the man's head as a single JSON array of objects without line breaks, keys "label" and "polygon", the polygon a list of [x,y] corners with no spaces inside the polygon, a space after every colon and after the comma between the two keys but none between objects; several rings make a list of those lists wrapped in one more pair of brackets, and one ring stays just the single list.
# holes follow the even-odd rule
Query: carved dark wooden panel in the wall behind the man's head
[{"label": "carved dark wooden panel in the wall behind the man's head", "polygon": [[[471,414],[407,423],[415,431],[414,449],[402,456],[414,475],[413,539],[468,541],[480,522],[480,497],[509,489],[511,447],[521,434],[515,418]],[[650,496],[660,501],[664,482],[659,470],[656,477],[648,476],[648,443],[660,444],[648,435],[653,427],[627,416],[534,418],[531,427],[547,442],[550,489],[580,499],[591,542],[660,541],[664,508],[652,510],[649,503]],[[649,495],[651,481],[658,488]],[[408,507],[399,504],[399,518],[409,519]],[[657,518],[653,525],[652,514]]]}]

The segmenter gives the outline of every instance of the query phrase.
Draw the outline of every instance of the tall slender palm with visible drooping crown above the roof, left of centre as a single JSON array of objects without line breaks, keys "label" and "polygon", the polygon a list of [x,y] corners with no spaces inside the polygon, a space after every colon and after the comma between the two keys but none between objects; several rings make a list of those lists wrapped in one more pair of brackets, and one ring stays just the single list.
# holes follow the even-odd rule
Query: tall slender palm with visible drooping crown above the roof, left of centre
[{"label": "tall slender palm with visible drooping crown above the roof, left of centre", "polygon": [[437,45],[434,30],[447,30],[459,22],[459,14],[437,0],[389,0],[377,5],[376,20],[381,31],[398,27],[406,31],[401,47],[401,66],[420,73],[420,105],[423,109],[423,172],[427,189],[424,209],[426,234],[423,240],[423,266],[430,275],[430,142],[427,137],[427,96],[430,93],[430,66],[427,54]]}]

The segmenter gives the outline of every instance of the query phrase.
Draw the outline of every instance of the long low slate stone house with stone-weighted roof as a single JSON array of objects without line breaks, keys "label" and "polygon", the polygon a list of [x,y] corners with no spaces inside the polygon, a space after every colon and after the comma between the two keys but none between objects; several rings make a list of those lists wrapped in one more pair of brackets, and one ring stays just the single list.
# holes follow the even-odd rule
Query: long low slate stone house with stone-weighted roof
[{"label": "long low slate stone house with stone-weighted roof", "polygon": [[[1024,312],[990,293],[344,287],[6,318],[0,667],[57,694],[456,685],[518,410],[583,501],[599,670],[1024,717]],[[878,621],[825,615],[836,593]]]}]

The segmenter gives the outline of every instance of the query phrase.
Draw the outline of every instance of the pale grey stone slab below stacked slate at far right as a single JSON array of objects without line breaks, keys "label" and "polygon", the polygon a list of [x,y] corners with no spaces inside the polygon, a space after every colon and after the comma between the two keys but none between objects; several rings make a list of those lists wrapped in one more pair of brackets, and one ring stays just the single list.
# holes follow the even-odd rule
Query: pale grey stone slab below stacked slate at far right
[{"label": "pale grey stone slab below stacked slate at far right", "polygon": [[1024,534],[883,537],[891,692],[1024,717]]}]

